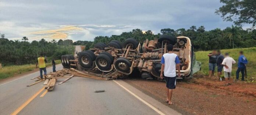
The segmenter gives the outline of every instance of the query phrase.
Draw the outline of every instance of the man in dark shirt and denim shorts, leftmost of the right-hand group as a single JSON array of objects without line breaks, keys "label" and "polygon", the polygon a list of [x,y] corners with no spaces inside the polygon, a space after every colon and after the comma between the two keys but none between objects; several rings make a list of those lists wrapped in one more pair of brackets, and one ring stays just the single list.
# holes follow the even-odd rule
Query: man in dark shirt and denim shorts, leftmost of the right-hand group
[{"label": "man in dark shirt and denim shorts, leftmost of the right-hand group", "polygon": [[209,56],[209,77],[211,77],[211,74],[214,75],[216,62],[217,62],[217,53],[214,49],[212,53],[209,53],[207,56]]}]

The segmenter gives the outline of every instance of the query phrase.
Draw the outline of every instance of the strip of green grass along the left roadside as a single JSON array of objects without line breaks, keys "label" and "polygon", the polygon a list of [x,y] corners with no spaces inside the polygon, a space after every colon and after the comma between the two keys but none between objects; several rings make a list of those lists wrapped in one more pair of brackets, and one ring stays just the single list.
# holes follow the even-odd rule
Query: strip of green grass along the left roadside
[{"label": "strip of green grass along the left roadside", "polygon": [[[59,64],[61,63],[61,61],[55,60],[55,63]],[[51,62],[46,63],[46,67],[47,66],[51,66]],[[21,66],[6,66],[3,68],[0,68],[0,79],[13,77],[14,75],[17,75],[17,74],[26,73],[34,70],[35,68],[36,68],[35,64],[26,64]]]}]

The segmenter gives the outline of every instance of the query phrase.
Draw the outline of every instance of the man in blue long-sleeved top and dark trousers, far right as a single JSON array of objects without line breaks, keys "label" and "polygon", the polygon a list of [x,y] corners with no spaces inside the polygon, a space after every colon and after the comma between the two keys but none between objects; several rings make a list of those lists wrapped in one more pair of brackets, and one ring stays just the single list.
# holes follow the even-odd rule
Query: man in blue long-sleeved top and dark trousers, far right
[{"label": "man in blue long-sleeved top and dark trousers, far right", "polygon": [[245,81],[245,68],[246,64],[248,63],[246,57],[243,55],[243,51],[239,52],[239,58],[238,58],[238,68],[237,68],[237,80],[239,79],[239,73],[241,71],[242,73],[242,81]]}]

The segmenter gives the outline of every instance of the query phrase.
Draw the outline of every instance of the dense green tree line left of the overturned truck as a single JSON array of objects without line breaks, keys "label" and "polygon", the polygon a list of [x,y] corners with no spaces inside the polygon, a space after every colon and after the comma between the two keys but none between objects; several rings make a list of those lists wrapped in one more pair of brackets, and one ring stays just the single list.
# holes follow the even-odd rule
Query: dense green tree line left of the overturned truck
[{"label": "dense green tree line left of the overturned truck", "polygon": [[43,53],[47,60],[60,59],[61,55],[74,53],[72,40],[52,40],[51,42],[41,39],[40,41],[28,42],[27,37],[22,41],[8,40],[1,34],[0,38],[0,63],[8,65],[31,64],[37,61],[37,58]]}]

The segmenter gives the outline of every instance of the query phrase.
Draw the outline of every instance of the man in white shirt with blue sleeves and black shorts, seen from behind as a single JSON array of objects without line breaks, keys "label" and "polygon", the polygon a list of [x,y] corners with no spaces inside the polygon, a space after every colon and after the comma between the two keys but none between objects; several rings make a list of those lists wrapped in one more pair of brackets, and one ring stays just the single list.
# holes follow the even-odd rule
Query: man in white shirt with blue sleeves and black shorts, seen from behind
[{"label": "man in white shirt with blue sleeves and black shorts, seen from behind", "polygon": [[179,68],[179,57],[173,53],[173,45],[167,45],[168,53],[165,53],[161,59],[161,74],[160,77],[166,80],[166,102],[169,105],[174,104],[171,102],[171,96],[173,95],[173,89],[176,88],[176,68],[178,69],[178,77],[181,77],[180,68]]}]

